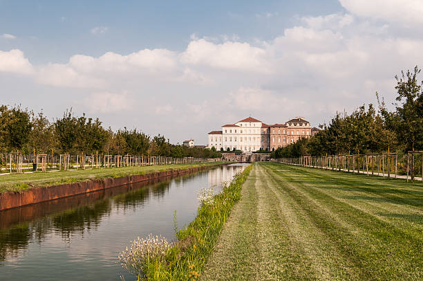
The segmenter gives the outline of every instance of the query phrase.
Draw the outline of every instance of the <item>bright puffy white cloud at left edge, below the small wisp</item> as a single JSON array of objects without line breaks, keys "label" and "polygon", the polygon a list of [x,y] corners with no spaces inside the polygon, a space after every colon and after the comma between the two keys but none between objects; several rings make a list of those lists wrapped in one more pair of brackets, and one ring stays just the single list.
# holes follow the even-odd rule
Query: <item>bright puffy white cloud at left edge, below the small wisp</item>
[{"label": "bright puffy white cloud at left edge, below the small wisp", "polygon": [[32,64],[20,50],[0,51],[0,72],[31,74]]}]

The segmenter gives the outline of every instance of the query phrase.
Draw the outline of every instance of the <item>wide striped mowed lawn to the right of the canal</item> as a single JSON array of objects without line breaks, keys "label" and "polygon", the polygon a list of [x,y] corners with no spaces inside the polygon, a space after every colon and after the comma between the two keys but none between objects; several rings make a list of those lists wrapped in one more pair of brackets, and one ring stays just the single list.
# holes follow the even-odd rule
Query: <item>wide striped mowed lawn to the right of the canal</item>
[{"label": "wide striped mowed lawn to the right of the canal", "polygon": [[202,280],[423,280],[423,184],[255,163]]}]

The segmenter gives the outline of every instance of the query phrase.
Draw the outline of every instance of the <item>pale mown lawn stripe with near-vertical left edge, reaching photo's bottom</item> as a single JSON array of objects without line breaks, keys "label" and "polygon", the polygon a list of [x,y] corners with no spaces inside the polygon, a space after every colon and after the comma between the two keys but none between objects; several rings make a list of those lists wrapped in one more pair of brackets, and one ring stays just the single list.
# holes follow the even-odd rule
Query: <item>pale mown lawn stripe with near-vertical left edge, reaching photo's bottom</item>
[{"label": "pale mown lawn stripe with near-vertical left edge, reaching photo's bottom", "polygon": [[271,188],[271,179],[257,166],[259,174],[256,190],[259,194],[259,278],[257,280],[293,280],[314,277],[312,260],[306,249],[296,239],[290,228],[292,219],[288,205],[281,204],[278,195]]}]

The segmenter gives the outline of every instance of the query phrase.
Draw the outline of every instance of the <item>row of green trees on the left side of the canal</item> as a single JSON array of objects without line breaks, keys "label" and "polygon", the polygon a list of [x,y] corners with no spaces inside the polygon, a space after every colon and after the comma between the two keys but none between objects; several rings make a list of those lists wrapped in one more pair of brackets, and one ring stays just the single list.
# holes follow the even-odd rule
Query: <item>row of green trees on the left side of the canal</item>
[{"label": "row of green trees on the left side of the canal", "polygon": [[61,118],[48,120],[21,106],[0,105],[0,153],[22,154],[112,154],[171,157],[221,157],[216,149],[173,145],[158,134],[148,136],[139,129],[104,128],[99,118],[75,116],[72,109]]}]

